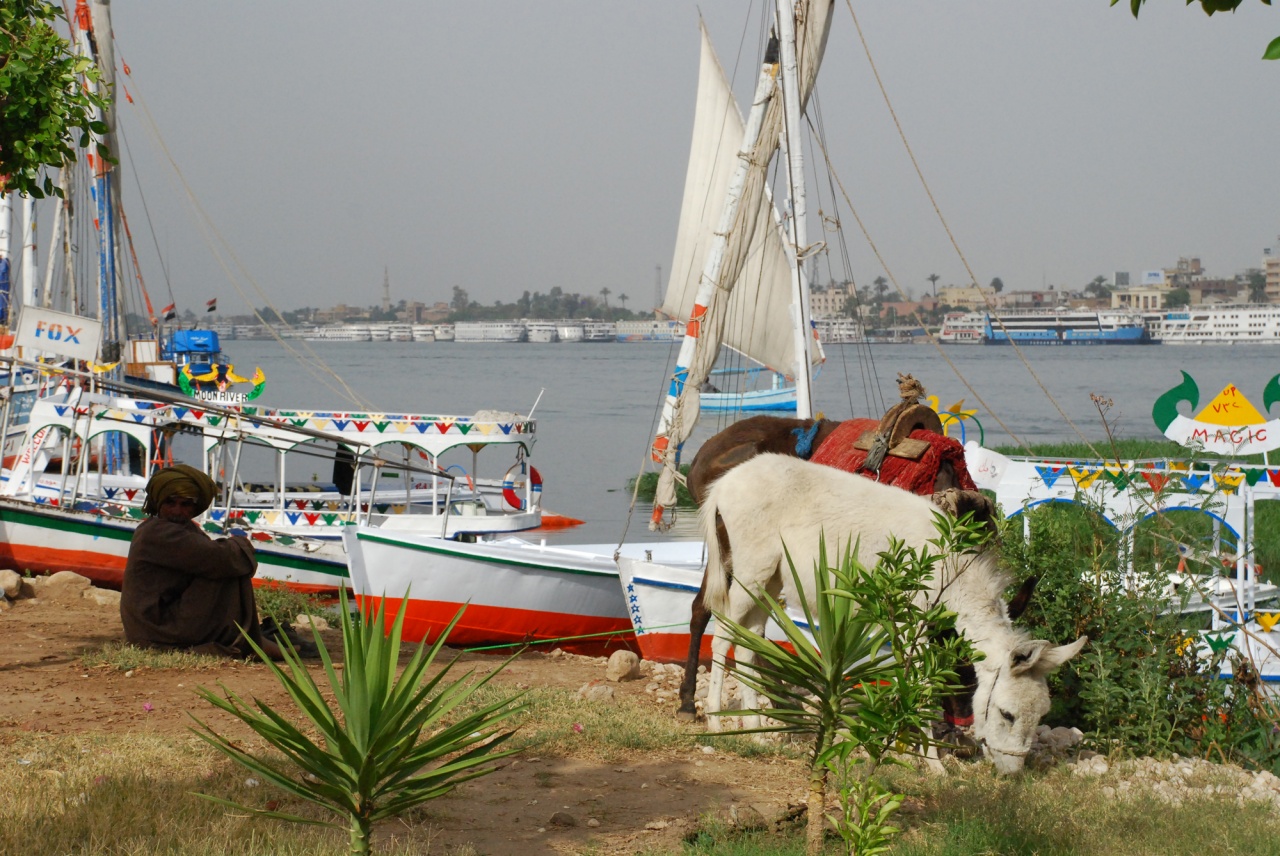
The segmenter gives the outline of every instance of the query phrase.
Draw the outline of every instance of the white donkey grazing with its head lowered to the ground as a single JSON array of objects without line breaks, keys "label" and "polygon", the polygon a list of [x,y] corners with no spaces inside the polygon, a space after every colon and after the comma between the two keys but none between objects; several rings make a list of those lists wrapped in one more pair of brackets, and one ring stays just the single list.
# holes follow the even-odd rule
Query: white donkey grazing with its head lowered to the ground
[{"label": "white donkey grazing with its head lowered to the ground", "polygon": [[[936,512],[938,508],[923,496],[863,476],[791,456],[759,454],[712,485],[699,512],[708,553],[707,605],[764,632],[764,612],[748,592],[767,590],[777,596],[785,591],[797,603],[783,544],[801,575],[812,572],[822,537],[831,549],[856,543],[859,560],[874,564],[877,554],[888,548],[890,535],[918,549],[936,539]],[[717,517],[728,535],[730,557],[721,557]],[[956,613],[956,630],[986,655],[974,664],[974,737],[997,770],[1015,773],[1023,768],[1036,727],[1048,713],[1046,676],[1075,656],[1088,637],[1055,646],[1014,628],[1004,600],[1007,580],[989,551],[946,557],[938,567],[940,578],[922,596],[931,601],[941,598]],[[806,594],[812,600],[812,586]],[[708,713],[721,709],[728,649],[730,640],[717,623]],[[754,655],[740,651],[739,662],[750,667]],[[754,691],[744,685],[742,692],[744,708],[759,706]],[[718,717],[707,719],[710,729],[718,729]]]}]

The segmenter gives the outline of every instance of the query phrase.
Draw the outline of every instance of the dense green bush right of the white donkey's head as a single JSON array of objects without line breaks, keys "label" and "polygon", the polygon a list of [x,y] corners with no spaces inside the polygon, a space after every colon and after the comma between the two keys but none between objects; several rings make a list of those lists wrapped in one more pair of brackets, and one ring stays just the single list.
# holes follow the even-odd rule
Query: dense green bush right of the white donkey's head
[{"label": "dense green bush right of the white donkey's head", "polygon": [[[1176,545],[1204,536],[1204,516],[1155,516],[1126,539],[1093,509],[1041,505],[1006,523],[1005,559],[1039,585],[1023,623],[1038,637],[1088,635],[1082,656],[1051,677],[1052,725],[1075,725],[1103,750],[1134,755],[1215,755],[1280,770],[1275,710],[1248,679],[1216,676],[1222,654],[1197,654],[1201,614],[1170,609]],[[1247,672],[1236,664],[1235,674]]]}]

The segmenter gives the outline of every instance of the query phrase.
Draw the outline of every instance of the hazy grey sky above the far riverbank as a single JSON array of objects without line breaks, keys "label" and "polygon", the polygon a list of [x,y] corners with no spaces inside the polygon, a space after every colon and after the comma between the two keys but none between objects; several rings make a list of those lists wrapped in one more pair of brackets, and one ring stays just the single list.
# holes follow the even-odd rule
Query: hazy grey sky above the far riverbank
[{"label": "hazy grey sky above the far riverbank", "polygon": [[[283,308],[375,303],[384,266],[393,299],[447,301],[462,285],[492,303],[559,285],[649,306],[655,269],[671,264],[698,15],[742,92],[759,5],[111,4],[131,92]],[[1156,0],[1135,22],[1126,6],[854,3],[980,283],[1079,288],[1179,256],[1230,275],[1276,243],[1280,63],[1260,56],[1280,12],[1248,0],[1210,19]],[[844,0],[818,99],[836,169],[890,271],[916,294],[933,273],[965,281]],[[122,105],[122,122],[179,303],[218,297],[223,312],[239,311],[168,169],[147,154],[136,105]],[[826,191],[819,203],[829,205]],[[847,219],[846,234],[854,276],[882,275]]]}]

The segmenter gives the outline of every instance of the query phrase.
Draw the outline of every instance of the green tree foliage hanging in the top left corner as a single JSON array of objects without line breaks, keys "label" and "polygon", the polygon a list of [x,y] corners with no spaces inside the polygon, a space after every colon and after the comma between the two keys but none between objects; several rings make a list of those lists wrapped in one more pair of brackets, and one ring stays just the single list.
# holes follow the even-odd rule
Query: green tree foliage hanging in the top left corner
[{"label": "green tree foliage hanging in the top left corner", "polygon": [[105,99],[82,84],[99,81],[99,72],[72,54],[54,29],[59,18],[61,8],[44,0],[0,4],[0,175],[9,191],[37,198],[60,193],[50,175],[41,178],[44,168],[61,166],[76,156],[74,145],[87,147],[91,132],[106,132],[93,119]]}]

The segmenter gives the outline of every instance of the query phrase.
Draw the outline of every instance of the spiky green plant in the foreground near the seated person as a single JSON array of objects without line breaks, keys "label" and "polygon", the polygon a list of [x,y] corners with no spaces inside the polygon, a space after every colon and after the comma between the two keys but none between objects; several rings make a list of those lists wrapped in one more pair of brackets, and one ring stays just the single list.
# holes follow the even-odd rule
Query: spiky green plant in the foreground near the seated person
[{"label": "spiky green plant in the foreground near the seated person", "polygon": [[[340,596],[343,668],[334,669],[320,635],[324,673],[333,695],[330,704],[316,686],[293,645],[282,645],[283,668],[255,651],[279,679],[301,711],[301,724],[285,719],[257,699],[252,705],[219,685],[219,695],[205,687],[196,692],[215,708],[247,724],[294,769],[252,755],[192,714],[197,736],[232,760],[293,796],[314,802],[340,820],[316,820],[283,811],[244,806],[230,800],[200,796],[257,816],[348,829],[352,853],[369,853],[374,823],[443,796],[462,782],[494,772],[493,761],[518,750],[502,745],[515,733],[499,724],[522,711],[521,695],[474,710],[463,710],[472,695],[509,663],[488,677],[472,681],[468,670],[448,679],[457,658],[435,677],[426,672],[457,624],[458,610],[445,632],[429,649],[419,644],[397,676],[404,601],[392,627],[387,628],[385,606],[374,608],[365,621],[352,615]],[[252,644],[252,642],[251,642]],[[319,740],[308,736],[319,733]]]}]

